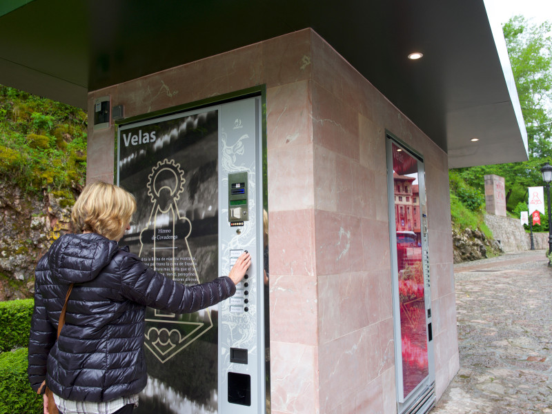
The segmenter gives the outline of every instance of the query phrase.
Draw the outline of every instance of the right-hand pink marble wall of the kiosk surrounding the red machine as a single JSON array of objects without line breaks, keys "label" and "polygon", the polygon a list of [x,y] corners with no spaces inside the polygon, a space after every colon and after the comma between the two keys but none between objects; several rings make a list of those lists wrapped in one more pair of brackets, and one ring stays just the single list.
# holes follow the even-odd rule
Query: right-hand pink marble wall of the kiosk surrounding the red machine
[{"label": "right-hand pink marble wall of the kiosk surrounding the red machine", "polygon": [[312,62],[320,412],[393,413],[385,131],[426,161],[437,396],[458,369],[447,157],[314,32]]}]

